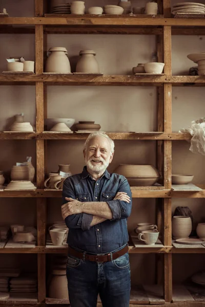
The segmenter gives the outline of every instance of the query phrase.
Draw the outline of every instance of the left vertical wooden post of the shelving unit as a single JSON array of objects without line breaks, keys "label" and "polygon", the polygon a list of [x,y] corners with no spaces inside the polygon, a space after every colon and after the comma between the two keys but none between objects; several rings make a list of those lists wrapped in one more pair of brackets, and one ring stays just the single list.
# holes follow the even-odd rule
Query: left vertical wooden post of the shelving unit
[{"label": "left vertical wooden post of the shelving unit", "polygon": [[[43,0],[35,0],[35,16],[43,16]],[[44,28],[35,25],[35,73],[44,69]],[[44,83],[36,82],[36,133],[44,131]],[[37,188],[44,188],[44,140],[36,140],[36,181]],[[45,246],[46,238],[46,198],[37,198],[37,245]],[[46,254],[37,255],[38,303],[46,300]]]}]

